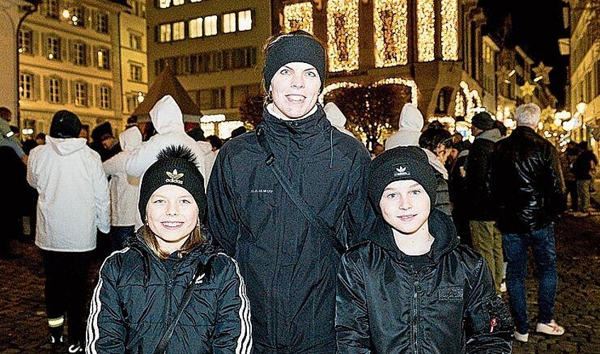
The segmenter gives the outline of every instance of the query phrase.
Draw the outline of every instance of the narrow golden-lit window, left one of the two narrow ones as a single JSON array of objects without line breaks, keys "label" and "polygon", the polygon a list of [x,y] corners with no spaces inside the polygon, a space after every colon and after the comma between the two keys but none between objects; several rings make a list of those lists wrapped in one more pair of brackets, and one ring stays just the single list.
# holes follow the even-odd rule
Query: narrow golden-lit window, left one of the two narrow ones
[{"label": "narrow golden-lit window, left one of the two narrow ones", "polygon": [[435,8],[434,0],[417,1],[417,60],[435,59]]}]

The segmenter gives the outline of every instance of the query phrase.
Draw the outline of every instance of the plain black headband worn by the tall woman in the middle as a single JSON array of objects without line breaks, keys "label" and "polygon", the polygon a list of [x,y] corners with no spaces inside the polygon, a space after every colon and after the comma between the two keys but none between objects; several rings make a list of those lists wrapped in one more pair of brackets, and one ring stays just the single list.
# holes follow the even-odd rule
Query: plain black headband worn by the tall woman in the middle
[{"label": "plain black headband worn by the tall woman in the middle", "polygon": [[277,38],[267,49],[265,67],[262,68],[266,92],[269,92],[271,80],[277,70],[292,62],[302,62],[315,67],[319,79],[321,79],[321,91],[323,91],[326,72],[323,46],[308,33],[306,35],[289,33]]}]

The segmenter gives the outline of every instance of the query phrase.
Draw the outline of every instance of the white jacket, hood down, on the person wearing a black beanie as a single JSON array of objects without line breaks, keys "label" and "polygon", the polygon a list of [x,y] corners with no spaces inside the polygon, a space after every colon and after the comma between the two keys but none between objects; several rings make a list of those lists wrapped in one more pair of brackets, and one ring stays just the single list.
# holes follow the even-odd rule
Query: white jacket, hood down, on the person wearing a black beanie
[{"label": "white jacket, hood down, on the person wearing a black beanie", "polygon": [[109,181],[100,155],[84,138],[46,137],[31,150],[27,181],[38,190],[35,244],[47,251],[96,249],[96,233],[111,231]]}]

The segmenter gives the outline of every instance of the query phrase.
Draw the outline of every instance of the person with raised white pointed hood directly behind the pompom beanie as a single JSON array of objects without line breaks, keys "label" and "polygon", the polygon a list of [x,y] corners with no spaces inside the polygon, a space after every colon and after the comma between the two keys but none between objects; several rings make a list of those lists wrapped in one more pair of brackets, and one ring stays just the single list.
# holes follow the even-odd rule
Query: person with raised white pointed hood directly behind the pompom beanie
[{"label": "person with raised white pointed hood directly behind the pompom beanie", "polygon": [[[158,153],[171,145],[189,147],[198,161],[198,170],[204,177],[204,188],[209,181],[209,172],[206,161],[202,158],[204,151],[196,141],[187,135],[184,129],[182,110],[171,95],[160,98],[150,110],[150,120],[157,134],[152,135],[147,142],[143,142],[131,152],[126,163],[126,172],[129,176],[142,177],[146,169],[152,165]],[[135,229],[143,225],[139,212],[135,222]]]}]

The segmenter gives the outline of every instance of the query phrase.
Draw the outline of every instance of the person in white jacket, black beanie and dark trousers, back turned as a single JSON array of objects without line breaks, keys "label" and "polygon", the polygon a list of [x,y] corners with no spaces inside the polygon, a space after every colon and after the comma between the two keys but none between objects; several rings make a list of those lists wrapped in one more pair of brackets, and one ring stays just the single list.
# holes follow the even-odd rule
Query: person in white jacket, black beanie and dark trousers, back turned
[{"label": "person in white jacket, black beanie and dark trousers, back turned", "polygon": [[27,181],[38,190],[35,245],[42,249],[50,343],[63,342],[65,313],[69,351],[85,341],[87,277],[96,232],[109,233],[110,198],[100,155],[79,137],[77,115],[59,110],[46,144],[31,150]]}]

